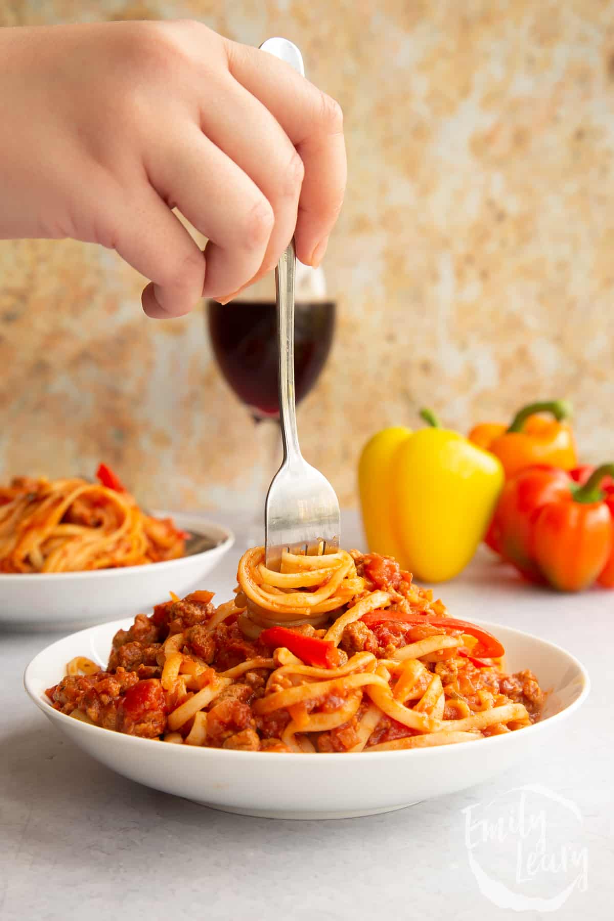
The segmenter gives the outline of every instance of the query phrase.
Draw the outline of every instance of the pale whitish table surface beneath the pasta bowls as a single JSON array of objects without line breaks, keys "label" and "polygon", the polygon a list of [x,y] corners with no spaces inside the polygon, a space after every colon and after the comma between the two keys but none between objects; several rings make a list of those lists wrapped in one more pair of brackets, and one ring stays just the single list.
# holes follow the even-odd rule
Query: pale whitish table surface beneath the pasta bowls
[{"label": "pale whitish table surface beneath the pasta bowls", "polygon": [[[237,531],[235,550],[207,584],[226,593],[244,540],[236,517],[216,517]],[[357,517],[345,515],[343,527],[343,544],[361,546]],[[547,749],[486,786],[332,822],[230,815],[113,774],[64,740],[23,690],[29,659],[58,635],[0,634],[0,917],[546,917],[550,903],[541,912],[517,909],[527,898],[554,898],[573,880],[561,864],[566,847],[586,861],[587,885],[576,885],[551,916],[611,917],[614,592],[563,596],[528,588],[484,553],[440,594],[458,617],[500,621],[567,647],[589,670],[592,693]],[[546,857],[559,857],[554,869],[544,869],[546,859],[532,875],[518,869],[516,878],[511,867],[522,830],[476,851],[473,833],[466,842],[462,810],[475,807],[470,817],[479,817],[489,809],[503,820],[509,809],[517,818],[517,788],[526,785],[546,787],[527,795],[545,822]],[[481,893],[469,866],[476,855],[495,889],[505,883],[516,893],[513,904],[501,907],[501,891],[498,904]]]}]

